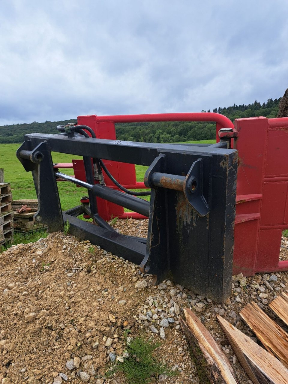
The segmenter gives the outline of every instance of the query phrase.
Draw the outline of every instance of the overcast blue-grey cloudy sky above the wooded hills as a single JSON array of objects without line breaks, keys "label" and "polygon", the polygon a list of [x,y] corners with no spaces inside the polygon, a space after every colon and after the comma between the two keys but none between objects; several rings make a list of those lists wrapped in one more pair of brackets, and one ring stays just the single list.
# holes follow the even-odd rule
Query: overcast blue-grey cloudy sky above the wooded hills
[{"label": "overcast blue-grey cloudy sky above the wooded hills", "polygon": [[283,96],[288,1],[0,0],[0,125]]}]

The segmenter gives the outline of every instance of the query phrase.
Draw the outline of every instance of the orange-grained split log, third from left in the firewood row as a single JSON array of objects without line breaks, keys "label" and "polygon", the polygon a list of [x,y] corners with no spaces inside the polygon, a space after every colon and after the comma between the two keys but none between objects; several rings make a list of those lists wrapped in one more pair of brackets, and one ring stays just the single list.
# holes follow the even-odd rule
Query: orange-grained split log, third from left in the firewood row
[{"label": "orange-grained split log, third from left in the firewood row", "polygon": [[288,334],[254,302],[248,303],[239,315],[267,351],[288,368]]}]

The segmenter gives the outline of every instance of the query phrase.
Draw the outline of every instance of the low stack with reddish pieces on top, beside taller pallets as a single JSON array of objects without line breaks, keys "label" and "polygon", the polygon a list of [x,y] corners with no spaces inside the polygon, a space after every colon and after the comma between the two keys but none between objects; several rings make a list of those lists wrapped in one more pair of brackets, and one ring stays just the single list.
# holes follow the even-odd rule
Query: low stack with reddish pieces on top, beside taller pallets
[{"label": "low stack with reddish pieces on top, beside taller pallets", "polygon": [[[23,206],[29,207],[29,212],[21,212]],[[32,232],[42,228],[47,228],[46,225],[33,221],[33,216],[38,210],[37,199],[21,199],[12,201],[12,209],[14,210],[14,229],[16,232]],[[17,212],[20,210],[20,213]]]}]

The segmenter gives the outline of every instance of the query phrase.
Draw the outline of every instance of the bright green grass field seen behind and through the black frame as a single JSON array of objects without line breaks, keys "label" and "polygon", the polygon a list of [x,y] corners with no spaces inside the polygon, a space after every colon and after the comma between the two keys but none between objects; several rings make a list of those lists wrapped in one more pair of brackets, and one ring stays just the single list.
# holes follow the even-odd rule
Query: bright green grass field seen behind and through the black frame
[{"label": "bright green grass field seen behind and through the black frame", "polygon": [[[215,140],[187,141],[186,143],[207,143],[213,144]],[[20,144],[0,144],[0,168],[4,168],[5,182],[11,183],[13,199],[36,199],[36,192],[31,172],[26,172],[16,157],[16,151]],[[79,156],[72,156],[63,153],[52,153],[53,162],[69,163],[73,159],[81,159]],[[143,181],[147,167],[136,165],[137,181]],[[66,174],[73,174],[73,170],[63,170]],[[78,188],[69,182],[58,183],[61,207],[63,210],[79,204],[83,195],[87,194],[84,188]],[[147,199],[147,197],[145,197]]]}]

